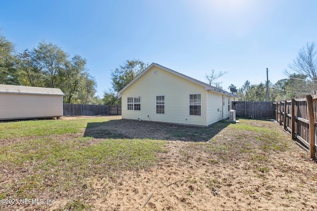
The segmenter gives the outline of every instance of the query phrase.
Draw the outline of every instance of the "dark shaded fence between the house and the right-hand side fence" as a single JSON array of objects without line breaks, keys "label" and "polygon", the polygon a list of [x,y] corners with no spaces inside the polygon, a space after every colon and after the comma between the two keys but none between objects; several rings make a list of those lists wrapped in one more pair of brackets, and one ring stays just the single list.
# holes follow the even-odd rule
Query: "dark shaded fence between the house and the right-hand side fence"
[{"label": "dark shaded fence between the house and the right-hand side fence", "polygon": [[234,101],[232,109],[236,111],[236,117],[275,118],[274,102]]}]

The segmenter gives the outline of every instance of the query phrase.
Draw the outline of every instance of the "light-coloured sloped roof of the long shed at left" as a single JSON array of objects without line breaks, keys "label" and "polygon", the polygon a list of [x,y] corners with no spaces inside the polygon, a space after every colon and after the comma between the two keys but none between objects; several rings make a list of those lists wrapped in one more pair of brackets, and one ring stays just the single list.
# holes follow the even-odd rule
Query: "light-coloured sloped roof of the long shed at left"
[{"label": "light-coloured sloped roof of the long shed at left", "polygon": [[64,95],[59,88],[0,84],[0,93]]}]

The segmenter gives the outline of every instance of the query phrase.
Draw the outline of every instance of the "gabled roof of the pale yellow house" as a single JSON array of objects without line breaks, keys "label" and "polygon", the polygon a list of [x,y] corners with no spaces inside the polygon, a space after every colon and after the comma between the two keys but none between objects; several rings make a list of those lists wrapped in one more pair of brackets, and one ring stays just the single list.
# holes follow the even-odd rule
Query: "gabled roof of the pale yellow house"
[{"label": "gabled roof of the pale yellow house", "polygon": [[204,86],[205,90],[213,90],[213,91],[217,91],[217,92],[220,92],[220,93],[229,95],[229,96],[238,97],[238,96],[235,95],[235,94],[231,94],[230,92],[224,91],[224,90],[219,89],[219,88],[217,88],[217,87],[214,87],[214,86],[212,86],[212,85],[209,85],[209,84],[206,84],[206,83],[204,83],[204,82],[201,82],[201,81],[199,81],[199,80],[197,80],[197,79],[191,78],[191,77],[186,76],[186,75],[181,74],[181,73],[178,73],[178,72],[176,72],[176,71],[174,71],[174,70],[171,70],[171,69],[169,69],[169,68],[167,68],[167,67],[161,66],[161,65],[159,65],[159,64],[157,64],[157,63],[152,63],[152,64],[150,64],[149,67],[147,67],[147,69],[145,69],[144,71],[142,71],[135,79],[133,79],[129,84],[127,84],[125,87],[123,87],[123,88],[118,92],[118,94],[121,95],[122,92],[123,92],[127,87],[129,87],[129,86],[130,86],[131,84],[133,84],[136,80],[138,80],[144,73],[146,73],[146,72],[147,72],[149,69],[151,69],[153,66],[159,67],[159,68],[161,68],[161,69],[163,69],[163,70],[165,70],[165,71],[167,71],[167,72],[170,72],[170,73],[172,73],[172,74],[174,74],[174,75],[177,75],[177,76],[179,76],[179,77],[181,77],[181,78],[184,78],[184,79],[186,79],[186,80],[189,80],[189,81],[191,81],[191,82],[193,82],[193,83],[195,83],[195,84],[202,85],[202,86]]}]

